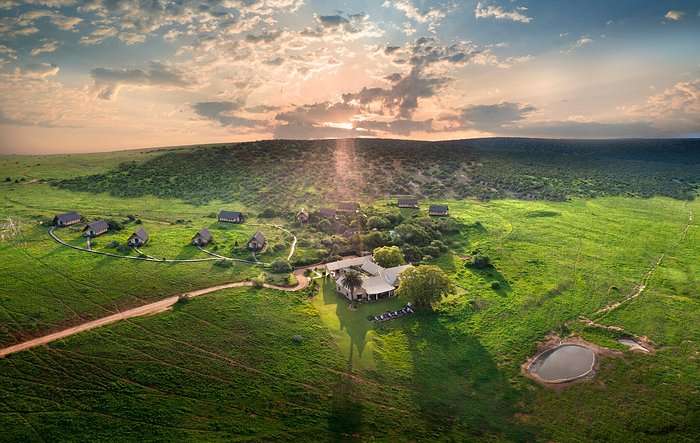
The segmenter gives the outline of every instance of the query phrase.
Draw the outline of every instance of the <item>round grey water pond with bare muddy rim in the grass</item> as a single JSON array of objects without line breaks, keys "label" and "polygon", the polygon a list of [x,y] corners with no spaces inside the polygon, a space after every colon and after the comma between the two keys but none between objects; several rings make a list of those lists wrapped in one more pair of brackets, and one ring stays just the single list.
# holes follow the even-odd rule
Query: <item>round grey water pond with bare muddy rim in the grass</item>
[{"label": "round grey water pond with bare muddy rim in the grass", "polygon": [[549,383],[563,383],[587,375],[595,365],[595,353],[580,345],[561,345],[537,356],[530,372]]}]

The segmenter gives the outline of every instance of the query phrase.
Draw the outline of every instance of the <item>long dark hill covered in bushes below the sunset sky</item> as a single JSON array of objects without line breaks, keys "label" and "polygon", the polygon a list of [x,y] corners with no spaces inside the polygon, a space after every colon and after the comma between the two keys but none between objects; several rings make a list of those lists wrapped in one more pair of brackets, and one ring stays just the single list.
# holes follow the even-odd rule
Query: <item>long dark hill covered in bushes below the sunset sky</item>
[{"label": "long dark hill covered in bushes below the sunset sky", "polygon": [[692,199],[700,188],[700,140],[268,140],[164,150],[54,185],[282,208],[387,195]]}]

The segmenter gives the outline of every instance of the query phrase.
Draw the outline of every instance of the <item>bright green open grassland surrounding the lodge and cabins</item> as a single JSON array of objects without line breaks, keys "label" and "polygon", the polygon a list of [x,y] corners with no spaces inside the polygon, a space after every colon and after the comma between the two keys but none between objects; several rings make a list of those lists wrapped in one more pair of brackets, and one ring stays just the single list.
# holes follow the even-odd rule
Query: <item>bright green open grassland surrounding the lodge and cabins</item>
[{"label": "bright green open grassland surrounding the lodge and cabins", "polygon": [[[0,344],[261,271],[242,263],[151,263],[69,250],[39,224],[58,211],[120,221],[136,215],[151,233],[143,252],[156,257],[207,257],[187,243],[196,230],[209,227],[217,253],[249,258],[235,244],[261,229],[271,246],[284,246],[259,256],[268,262],[286,256],[291,241],[272,224],[297,235],[296,259],[311,262],[327,254],[322,244],[328,235],[296,226],[284,211],[260,216],[277,208],[277,197],[269,196],[279,189],[256,201],[240,187],[227,188],[236,185],[227,179],[210,193],[213,198],[194,198],[194,185],[180,198],[160,195],[151,192],[155,184],[138,179],[129,196],[102,187],[101,180],[121,183],[114,174],[123,170],[117,166],[122,161],[136,161],[129,168],[138,169],[171,162],[169,156],[182,152],[198,155],[191,149],[166,152],[165,158],[115,153],[102,166],[90,158],[87,169],[70,172],[66,165],[77,162],[70,157],[56,157],[53,165],[43,157],[36,162],[45,168],[40,172],[31,166],[33,158],[17,157],[27,165],[27,180],[0,184],[0,220],[20,227],[0,241]],[[314,155],[309,159],[321,158]],[[608,155],[632,162],[625,150]],[[498,159],[498,151],[482,154],[480,161],[487,157]],[[0,175],[9,176],[17,158],[0,158]],[[513,157],[498,161],[503,158]],[[660,159],[647,153],[635,161],[648,166]],[[687,184],[696,172],[681,163],[670,155],[666,171],[686,177],[681,181]],[[572,166],[566,174],[586,175],[584,169]],[[557,174],[564,172],[550,176]],[[639,173],[634,186],[640,194],[658,194],[654,189],[664,174],[641,179]],[[251,181],[264,184],[265,177]],[[57,186],[50,179],[68,181]],[[95,191],[74,189],[82,180],[97,183]],[[640,198],[628,194],[635,194],[632,188],[628,183],[620,192],[600,191],[607,196],[566,201],[436,195],[449,204],[459,229],[443,237],[449,250],[429,259],[457,287],[433,312],[376,324],[367,317],[405,301],[351,310],[332,282],[319,280],[314,292],[221,291],[12,355],[0,360],[0,440],[697,441],[700,201],[680,194]],[[289,189],[295,199],[290,206],[306,197],[314,204],[330,198],[311,181],[302,193]],[[393,200],[369,194],[363,200],[372,201],[366,212],[399,212]],[[219,225],[212,214],[222,208],[251,218],[243,225]],[[128,223],[99,237],[96,249],[116,252],[109,242],[123,242],[136,227]],[[57,232],[85,243],[70,228]],[[488,255],[493,267],[466,266],[475,253]],[[595,314],[633,293],[662,255],[639,297]],[[626,351],[609,334],[578,321],[580,316],[646,336],[655,352]],[[520,373],[548,333],[572,331],[620,352],[602,357],[592,380],[563,390]],[[296,335],[302,339],[293,340]]]}]

